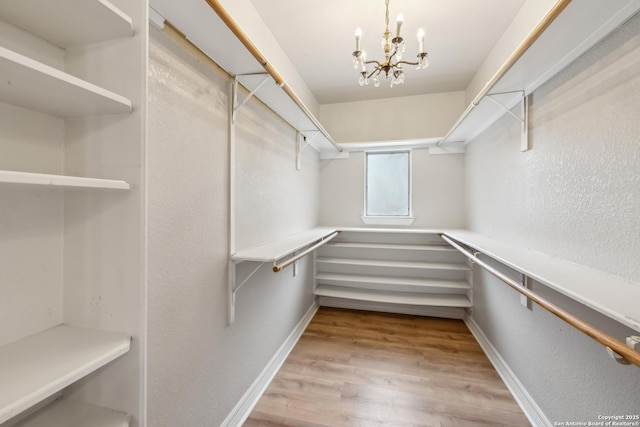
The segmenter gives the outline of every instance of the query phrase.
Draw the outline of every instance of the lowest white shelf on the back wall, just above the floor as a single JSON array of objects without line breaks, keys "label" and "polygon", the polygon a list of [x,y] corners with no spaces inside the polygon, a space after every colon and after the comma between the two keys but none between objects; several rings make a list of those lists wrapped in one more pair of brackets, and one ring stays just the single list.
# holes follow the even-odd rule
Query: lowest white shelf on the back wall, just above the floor
[{"label": "lowest white shelf on the back wall, just above the floor", "polygon": [[354,301],[366,301],[386,304],[400,304],[427,307],[471,307],[469,299],[462,294],[422,294],[411,292],[376,291],[360,288],[318,285],[315,295],[328,298],[340,298]]}]

